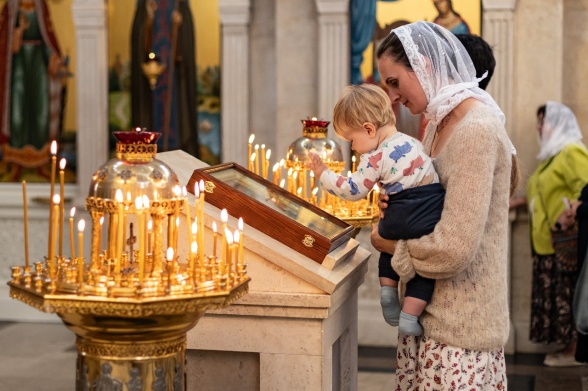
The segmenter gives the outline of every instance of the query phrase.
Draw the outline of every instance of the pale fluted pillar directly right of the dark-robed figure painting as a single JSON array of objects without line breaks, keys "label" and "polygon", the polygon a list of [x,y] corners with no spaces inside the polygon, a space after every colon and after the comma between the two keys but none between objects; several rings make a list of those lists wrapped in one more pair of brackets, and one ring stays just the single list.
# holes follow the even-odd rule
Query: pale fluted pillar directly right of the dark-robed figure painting
[{"label": "pale fluted pillar directly right of the dark-robed figure painting", "polygon": [[246,166],[249,133],[249,0],[219,0],[222,161]]}]

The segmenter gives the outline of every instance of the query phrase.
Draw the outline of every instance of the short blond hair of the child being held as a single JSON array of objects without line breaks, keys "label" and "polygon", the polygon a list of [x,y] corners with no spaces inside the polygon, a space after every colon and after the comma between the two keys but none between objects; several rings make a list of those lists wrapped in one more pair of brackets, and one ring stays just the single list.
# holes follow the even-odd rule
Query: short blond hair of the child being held
[{"label": "short blond hair of the child being held", "polygon": [[333,109],[335,132],[345,138],[351,130],[360,129],[365,122],[376,129],[396,124],[390,98],[374,84],[347,86]]}]

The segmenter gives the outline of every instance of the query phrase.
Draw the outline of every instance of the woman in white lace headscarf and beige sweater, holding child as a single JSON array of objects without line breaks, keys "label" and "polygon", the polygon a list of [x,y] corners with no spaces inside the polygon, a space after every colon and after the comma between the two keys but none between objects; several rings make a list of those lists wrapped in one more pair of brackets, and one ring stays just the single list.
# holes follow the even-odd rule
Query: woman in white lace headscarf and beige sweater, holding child
[{"label": "woman in white lace headscarf and beige sweater, holding child", "polygon": [[431,234],[391,242],[372,231],[374,247],[394,254],[401,282],[415,273],[436,279],[424,334],[399,335],[397,389],[506,389],[508,201],[517,176],[504,115],[478,87],[461,42],[439,25],[394,29],[377,56],[390,100],[429,119],[423,144],[446,190]]}]

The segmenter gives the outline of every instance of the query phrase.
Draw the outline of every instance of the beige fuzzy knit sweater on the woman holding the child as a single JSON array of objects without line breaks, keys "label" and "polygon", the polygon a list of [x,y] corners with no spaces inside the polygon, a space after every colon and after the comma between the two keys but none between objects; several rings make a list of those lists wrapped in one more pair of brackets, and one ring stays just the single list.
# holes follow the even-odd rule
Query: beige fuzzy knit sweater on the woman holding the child
[{"label": "beige fuzzy knit sweater on the woman holding the child", "polygon": [[[435,129],[423,142],[430,152]],[[511,153],[488,106],[457,124],[434,165],[446,189],[433,233],[401,240],[392,266],[406,282],[415,271],[436,279],[421,322],[435,341],[495,350],[508,338],[507,232]]]}]

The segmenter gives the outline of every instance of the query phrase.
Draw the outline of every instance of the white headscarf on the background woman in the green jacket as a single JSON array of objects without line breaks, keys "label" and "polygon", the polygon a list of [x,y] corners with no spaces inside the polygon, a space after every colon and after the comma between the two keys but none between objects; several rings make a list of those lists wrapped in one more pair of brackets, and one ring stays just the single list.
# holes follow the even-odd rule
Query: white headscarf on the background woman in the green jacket
[{"label": "white headscarf on the background woman in the green jacket", "polygon": [[572,110],[561,103],[548,101],[539,144],[537,159],[543,161],[557,155],[566,145],[582,140],[582,131]]}]

